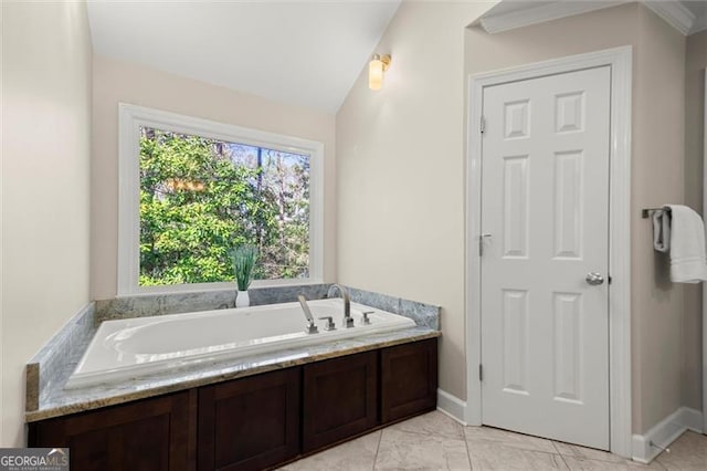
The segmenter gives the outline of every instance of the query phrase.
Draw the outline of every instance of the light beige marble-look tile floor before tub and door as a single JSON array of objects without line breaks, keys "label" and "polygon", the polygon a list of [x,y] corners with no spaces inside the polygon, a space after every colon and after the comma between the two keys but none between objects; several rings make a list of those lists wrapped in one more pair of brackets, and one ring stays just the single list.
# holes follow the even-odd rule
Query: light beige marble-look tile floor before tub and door
[{"label": "light beige marble-look tile floor before tub and door", "polygon": [[463,427],[434,411],[281,468],[348,470],[707,470],[707,436],[685,432],[650,465],[590,448],[489,427]]}]

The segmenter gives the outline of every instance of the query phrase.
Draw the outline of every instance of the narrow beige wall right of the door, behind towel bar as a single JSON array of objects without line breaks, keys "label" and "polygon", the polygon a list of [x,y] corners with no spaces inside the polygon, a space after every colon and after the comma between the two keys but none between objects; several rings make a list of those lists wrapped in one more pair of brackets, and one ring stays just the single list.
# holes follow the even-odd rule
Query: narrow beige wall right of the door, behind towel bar
[{"label": "narrow beige wall right of the door, behind towel bar", "polygon": [[685,36],[639,8],[634,70],[632,343],[633,423],[645,432],[682,406],[683,293],[653,250],[641,208],[684,201]]}]

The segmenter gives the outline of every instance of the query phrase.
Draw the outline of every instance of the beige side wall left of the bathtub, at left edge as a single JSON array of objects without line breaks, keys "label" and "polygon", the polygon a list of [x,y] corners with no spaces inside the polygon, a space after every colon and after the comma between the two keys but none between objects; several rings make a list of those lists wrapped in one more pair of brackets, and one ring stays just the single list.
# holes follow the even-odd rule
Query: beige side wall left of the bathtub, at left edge
[{"label": "beige side wall left of the bathtub, at left edge", "polygon": [[89,300],[91,35],[81,2],[2,3],[2,427],[24,364]]}]

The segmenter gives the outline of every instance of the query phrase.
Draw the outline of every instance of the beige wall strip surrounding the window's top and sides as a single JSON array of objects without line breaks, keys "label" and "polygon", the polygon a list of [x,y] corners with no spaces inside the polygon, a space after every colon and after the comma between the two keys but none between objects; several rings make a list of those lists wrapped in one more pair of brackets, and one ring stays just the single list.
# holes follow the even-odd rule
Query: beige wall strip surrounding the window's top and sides
[{"label": "beige wall strip surrounding the window's top and sides", "polygon": [[130,103],[313,139],[325,145],[325,266],[336,270],[334,115],[283,105],[203,82],[112,59],[94,57],[91,201],[92,296],[116,295],[118,251],[118,103]]}]

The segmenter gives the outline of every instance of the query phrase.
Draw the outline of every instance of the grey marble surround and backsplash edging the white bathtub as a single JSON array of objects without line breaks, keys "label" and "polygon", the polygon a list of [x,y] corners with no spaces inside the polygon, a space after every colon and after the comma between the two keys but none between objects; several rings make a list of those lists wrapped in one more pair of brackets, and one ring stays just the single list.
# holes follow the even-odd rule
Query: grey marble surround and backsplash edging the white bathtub
[{"label": "grey marble surround and backsplash edging the white bathtub", "polygon": [[[274,286],[249,290],[251,305],[294,302],[298,294],[308,300],[327,296],[331,283]],[[319,346],[281,350],[246,357],[234,363],[222,360],[194,367],[176,368],[123,384],[64,390],[63,387],[83,357],[103,321],[145,317],[186,312],[231,308],[236,291],[218,290],[191,293],[160,293],[123,296],[89,303],[56,333],[27,365],[25,419],[42,420],[95,409],[108,405],[188,389],[196,386],[250,376],[258,373],[334,358],[383,346],[399,345],[440,336],[439,306],[346,286],[351,301],[412,318],[416,327],[350,338]],[[288,359],[289,358],[289,359]],[[294,359],[293,359],[294,358]],[[229,363],[229,365],[221,365]],[[221,366],[219,366],[221,365]]]}]

